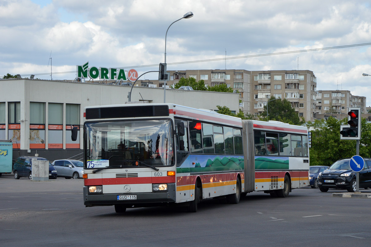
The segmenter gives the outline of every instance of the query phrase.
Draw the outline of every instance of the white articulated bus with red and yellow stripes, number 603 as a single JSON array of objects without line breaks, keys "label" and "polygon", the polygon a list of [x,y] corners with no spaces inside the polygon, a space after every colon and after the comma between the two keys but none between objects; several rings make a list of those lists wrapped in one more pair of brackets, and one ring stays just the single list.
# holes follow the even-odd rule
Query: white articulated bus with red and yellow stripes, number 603
[{"label": "white articulated bus with red and yellow stripes, number 603", "polygon": [[84,121],[86,207],[196,212],[207,198],[239,203],[252,191],[287,197],[309,185],[303,126],[168,103],[86,107]]}]

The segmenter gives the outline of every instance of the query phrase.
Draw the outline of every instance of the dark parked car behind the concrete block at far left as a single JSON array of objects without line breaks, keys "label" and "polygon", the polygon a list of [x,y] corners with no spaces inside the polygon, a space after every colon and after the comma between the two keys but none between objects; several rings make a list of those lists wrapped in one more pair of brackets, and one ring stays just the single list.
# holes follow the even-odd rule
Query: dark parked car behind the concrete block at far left
[{"label": "dark parked car behind the concrete block at far left", "polygon": [[[47,160],[40,156],[19,156],[13,165],[13,174],[15,179],[20,177],[28,177],[32,179],[32,160]],[[49,162],[49,161],[48,161]],[[57,171],[49,162],[49,179],[57,179]]]}]

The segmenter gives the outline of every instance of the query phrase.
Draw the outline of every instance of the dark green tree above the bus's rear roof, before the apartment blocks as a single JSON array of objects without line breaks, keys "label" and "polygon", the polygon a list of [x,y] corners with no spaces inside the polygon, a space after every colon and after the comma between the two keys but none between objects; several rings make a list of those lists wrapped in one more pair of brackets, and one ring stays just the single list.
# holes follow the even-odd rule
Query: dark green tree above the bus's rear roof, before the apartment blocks
[{"label": "dark green tree above the bus's rear roof, before the apartment blocks", "polygon": [[[290,101],[286,99],[276,99],[275,97],[270,97],[268,103],[268,120],[281,121],[289,124],[301,125],[305,121],[299,119],[298,113],[291,107]],[[264,106],[264,111],[260,115],[260,120],[267,121],[267,106]]]}]

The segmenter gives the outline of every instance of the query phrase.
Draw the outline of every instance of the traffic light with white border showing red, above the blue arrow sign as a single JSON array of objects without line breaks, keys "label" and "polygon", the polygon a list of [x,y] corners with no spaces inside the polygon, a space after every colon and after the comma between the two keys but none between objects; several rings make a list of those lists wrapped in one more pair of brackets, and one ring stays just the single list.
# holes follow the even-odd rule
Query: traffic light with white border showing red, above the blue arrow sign
[{"label": "traffic light with white border showing red, above the blue arrow sign", "polygon": [[360,140],[361,139],[361,108],[350,107],[348,112],[348,125],[340,126],[340,139]]}]

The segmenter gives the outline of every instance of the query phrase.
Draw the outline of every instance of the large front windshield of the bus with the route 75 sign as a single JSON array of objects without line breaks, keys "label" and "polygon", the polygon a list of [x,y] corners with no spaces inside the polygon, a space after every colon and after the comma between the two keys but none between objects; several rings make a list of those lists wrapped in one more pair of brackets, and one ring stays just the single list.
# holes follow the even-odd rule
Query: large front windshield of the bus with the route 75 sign
[{"label": "large front windshield of the bus with the route 75 sign", "polygon": [[174,164],[170,120],[85,123],[85,128],[86,168]]}]

